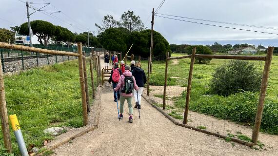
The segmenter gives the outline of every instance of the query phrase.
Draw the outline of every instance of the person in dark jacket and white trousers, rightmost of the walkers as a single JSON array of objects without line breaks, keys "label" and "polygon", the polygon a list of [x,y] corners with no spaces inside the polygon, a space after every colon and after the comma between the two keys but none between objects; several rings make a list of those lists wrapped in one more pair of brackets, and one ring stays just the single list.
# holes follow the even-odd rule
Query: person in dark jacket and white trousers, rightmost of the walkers
[{"label": "person in dark jacket and white trousers, rightmost of the walkers", "polygon": [[135,63],[135,66],[136,67],[132,71],[132,76],[134,76],[139,89],[138,92],[136,92],[135,90],[133,91],[135,103],[136,103],[134,108],[138,107],[138,109],[141,109],[141,95],[143,93],[144,84],[147,82],[147,78],[144,70],[141,68],[141,63],[137,61]]}]

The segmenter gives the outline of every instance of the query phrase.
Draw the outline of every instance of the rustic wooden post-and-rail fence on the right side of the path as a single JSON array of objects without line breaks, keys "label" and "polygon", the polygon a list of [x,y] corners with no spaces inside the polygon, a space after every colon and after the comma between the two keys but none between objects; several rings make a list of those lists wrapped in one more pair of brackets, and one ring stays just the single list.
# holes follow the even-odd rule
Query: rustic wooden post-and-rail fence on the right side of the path
[{"label": "rustic wooden post-and-rail fence on the right side of the path", "polygon": [[[186,127],[186,128],[191,128],[191,129],[194,129],[194,130],[197,130],[197,131],[201,131],[201,132],[204,132],[204,133],[207,133],[207,134],[210,134],[210,135],[214,135],[214,136],[218,136],[218,137],[225,137],[225,136],[220,135],[218,133],[210,132],[210,131],[207,131],[207,130],[201,130],[199,128],[189,126],[187,124],[188,123],[188,108],[189,108],[189,104],[190,104],[190,93],[191,93],[191,84],[192,84],[193,67],[194,67],[195,58],[202,58],[202,59],[241,59],[241,60],[265,61],[264,69],[263,69],[263,76],[262,76],[261,86],[260,86],[257,115],[256,115],[255,125],[254,125],[254,128],[253,128],[253,133],[252,133],[252,142],[254,144],[257,144],[260,124],[261,124],[261,119],[262,119],[264,100],[265,100],[265,95],[266,95],[267,82],[268,82],[268,78],[269,78],[270,64],[271,64],[271,60],[272,60],[272,56],[273,56],[273,49],[274,49],[274,47],[268,47],[266,56],[201,55],[201,54],[196,54],[196,47],[193,48],[193,51],[192,51],[191,55],[169,58],[169,53],[167,53],[166,62],[165,62],[165,78],[164,78],[162,109],[165,110],[165,108],[166,108],[166,102],[165,101],[166,101],[166,98],[167,98],[166,97],[166,88],[167,88],[167,74],[168,74],[168,62],[169,62],[169,60],[191,58],[189,76],[188,76],[188,83],[187,83],[186,99],[185,99],[183,124],[177,123],[177,125],[182,126],[182,127]],[[232,138],[232,140],[242,143],[242,140],[238,140],[237,138]],[[248,143],[248,142],[243,142],[243,143],[248,145],[248,146],[253,146],[253,143]]]}]

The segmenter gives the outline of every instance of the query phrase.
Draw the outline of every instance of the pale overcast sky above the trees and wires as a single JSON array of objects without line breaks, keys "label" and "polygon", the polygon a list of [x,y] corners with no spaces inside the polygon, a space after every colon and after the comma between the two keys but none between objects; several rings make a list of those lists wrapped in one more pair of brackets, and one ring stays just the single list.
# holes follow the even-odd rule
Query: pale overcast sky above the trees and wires
[{"label": "pale overcast sky above the trees and wires", "polygon": [[[25,1],[25,0],[21,0]],[[32,0],[29,2],[50,2],[45,10],[60,10],[50,17],[41,12],[31,15],[31,20],[47,20],[55,25],[68,28],[72,32],[97,32],[95,23],[101,23],[107,14],[119,20],[124,11],[132,10],[139,15],[145,26],[150,28],[152,8],[157,8],[161,0]],[[31,4],[37,8],[43,4]],[[278,0],[165,0],[158,13],[204,20],[250,24],[278,28]],[[34,10],[30,10],[32,13]],[[27,21],[26,4],[20,0],[0,0],[0,27],[20,25]],[[59,18],[57,20],[55,18]],[[181,19],[188,20],[188,19]],[[238,25],[196,22],[249,29],[278,34],[278,30],[244,27]],[[169,43],[226,44],[250,43],[264,46],[278,46],[278,35],[247,32],[214,26],[188,23],[155,17],[154,29]]]}]

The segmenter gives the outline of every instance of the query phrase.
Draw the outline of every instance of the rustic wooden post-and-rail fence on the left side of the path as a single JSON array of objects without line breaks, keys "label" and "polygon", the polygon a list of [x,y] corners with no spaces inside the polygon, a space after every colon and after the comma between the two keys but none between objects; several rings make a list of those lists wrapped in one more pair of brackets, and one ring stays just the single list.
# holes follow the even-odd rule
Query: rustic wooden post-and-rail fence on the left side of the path
[{"label": "rustic wooden post-and-rail fence on the left side of the path", "polygon": [[[86,73],[86,61],[85,61],[85,56],[82,54],[82,43],[78,43],[78,53],[40,49],[40,48],[27,47],[27,46],[16,45],[16,44],[9,44],[9,43],[4,43],[4,42],[0,42],[0,48],[42,53],[42,54],[78,57],[79,82],[80,82],[81,98],[82,98],[83,125],[87,125],[88,112],[89,112],[90,105],[89,105],[89,100],[88,100],[89,95],[88,95],[88,84],[87,84],[87,73]],[[99,52],[99,54],[100,53],[101,52]],[[99,59],[99,56],[98,56],[98,59]],[[95,59],[93,59],[93,61],[96,62]],[[0,64],[1,64],[1,62],[0,62]],[[95,66],[99,66],[99,69],[100,69],[99,64],[100,63],[96,63]],[[92,69],[93,69],[92,60],[90,60],[90,66],[92,66],[90,72],[91,72],[91,78],[93,78],[92,77],[92,74],[93,74],[92,73],[93,72],[92,71]],[[93,79],[92,79],[92,87],[94,87]],[[93,88],[93,97],[94,97],[94,88]],[[7,107],[6,107],[4,80],[3,80],[3,72],[2,72],[1,65],[0,65],[0,119],[1,119],[4,147],[6,149],[8,149],[8,152],[11,152],[12,145],[11,145],[11,137],[10,137],[10,132],[9,132],[10,129],[9,129],[9,122],[8,122],[8,112],[7,112]]]}]

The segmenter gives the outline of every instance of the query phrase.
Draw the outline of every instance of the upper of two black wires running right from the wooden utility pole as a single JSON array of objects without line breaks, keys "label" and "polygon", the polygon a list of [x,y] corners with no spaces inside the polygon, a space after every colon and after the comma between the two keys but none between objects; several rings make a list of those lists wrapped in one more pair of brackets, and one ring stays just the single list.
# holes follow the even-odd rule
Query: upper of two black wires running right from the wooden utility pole
[{"label": "upper of two black wires running right from the wooden utility pole", "polygon": [[190,19],[190,20],[202,20],[202,21],[209,21],[209,22],[222,23],[222,24],[231,24],[231,25],[248,26],[248,27],[255,27],[255,28],[262,28],[262,29],[278,30],[278,28],[268,27],[268,26],[258,26],[258,25],[250,25],[250,24],[239,24],[239,23],[231,23],[231,22],[216,21],[216,20],[203,20],[203,19],[195,19],[195,18],[175,16],[175,15],[168,15],[168,14],[160,14],[160,13],[156,13],[156,14],[164,15],[164,16],[177,17],[177,18],[183,18],[183,19]]}]

